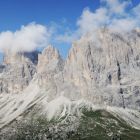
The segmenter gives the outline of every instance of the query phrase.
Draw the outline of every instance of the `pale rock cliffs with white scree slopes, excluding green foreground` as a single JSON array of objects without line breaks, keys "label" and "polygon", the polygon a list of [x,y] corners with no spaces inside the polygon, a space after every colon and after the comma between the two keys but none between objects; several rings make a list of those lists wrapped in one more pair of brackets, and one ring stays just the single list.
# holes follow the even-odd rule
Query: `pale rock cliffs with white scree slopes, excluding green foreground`
[{"label": "pale rock cliffs with white scree slopes, excluding green foreground", "polygon": [[96,40],[94,34],[87,34],[73,43],[66,60],[52,46],[38,57],[33,54],[5,55],[0,128],[33,106],[52,119],[83,105],[103,108],[139,128],[139,30],[119,34],[102,29]]}]

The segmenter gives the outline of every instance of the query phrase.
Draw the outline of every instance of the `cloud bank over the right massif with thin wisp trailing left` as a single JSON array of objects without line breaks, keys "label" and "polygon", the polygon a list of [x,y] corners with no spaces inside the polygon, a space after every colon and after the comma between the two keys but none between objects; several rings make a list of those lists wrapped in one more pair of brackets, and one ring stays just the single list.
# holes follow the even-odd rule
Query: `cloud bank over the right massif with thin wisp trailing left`
[{"label": "cloud bank over the right massif with thin wisp trailing left", "polygon": [[140,26],[140,4],[133,6],[131,0],[100,0],[101,6],[95,11],[88,7],[78,18],[77,30],[59,35],[60,42],[71,43],[87,33],[107,27],[116,32],[129,32]]}]

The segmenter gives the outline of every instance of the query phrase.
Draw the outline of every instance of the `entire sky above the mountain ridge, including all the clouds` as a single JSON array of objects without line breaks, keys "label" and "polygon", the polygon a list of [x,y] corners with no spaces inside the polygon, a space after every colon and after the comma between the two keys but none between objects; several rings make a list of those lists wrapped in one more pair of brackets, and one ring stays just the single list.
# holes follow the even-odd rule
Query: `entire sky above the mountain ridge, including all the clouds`
[{"label": "entire sky above the mountain ridge, including all the clouds", "polygon": [[139,27],[138,12],[139,0],[0,0],[0,50],[52,44],[65,58],[71,43],[92,29]]}]

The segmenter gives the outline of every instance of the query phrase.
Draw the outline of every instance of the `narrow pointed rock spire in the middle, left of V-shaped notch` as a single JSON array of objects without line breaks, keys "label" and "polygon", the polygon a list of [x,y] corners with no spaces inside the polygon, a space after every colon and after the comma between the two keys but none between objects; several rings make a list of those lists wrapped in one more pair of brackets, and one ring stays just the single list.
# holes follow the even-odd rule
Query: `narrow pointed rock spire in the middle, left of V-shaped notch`
[{"label": "narrow pointed rock spire in the middle, left of V-shaped notch", "polygon": [[64,61],[57,49],[48,46],[38,57],[37,80],[39,85],[47,86],[55,81],[55,76],[63,71]]}]

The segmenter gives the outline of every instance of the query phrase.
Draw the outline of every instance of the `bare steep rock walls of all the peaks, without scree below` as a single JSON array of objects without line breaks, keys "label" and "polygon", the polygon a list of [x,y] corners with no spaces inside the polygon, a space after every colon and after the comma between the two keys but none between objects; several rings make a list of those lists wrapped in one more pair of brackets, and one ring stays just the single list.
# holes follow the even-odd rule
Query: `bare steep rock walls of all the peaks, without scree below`
[{"label": "bare steep rock walls of all the peaks, without scree below", "polygon": [[63,95],[94,104],[140,109],[140,32],[101,29],[73,43],[64,60],[52,46],[33,53],[7,54],[0,68],[0,92],[19,93],[32,79],[48,100]]}]

